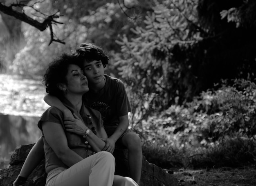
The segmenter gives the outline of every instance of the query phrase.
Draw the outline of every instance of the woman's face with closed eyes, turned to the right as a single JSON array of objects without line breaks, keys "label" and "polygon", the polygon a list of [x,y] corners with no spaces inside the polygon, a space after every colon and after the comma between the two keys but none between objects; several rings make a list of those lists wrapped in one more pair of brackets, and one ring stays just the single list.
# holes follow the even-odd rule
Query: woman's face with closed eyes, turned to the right
[{"label": "woman's face with closed eyes, turned to the right", "polygon": [[77,65],[69,65],[66,75],[66,92],[71,94],[84,94],[89,91],[88,81],[82,69]]}]

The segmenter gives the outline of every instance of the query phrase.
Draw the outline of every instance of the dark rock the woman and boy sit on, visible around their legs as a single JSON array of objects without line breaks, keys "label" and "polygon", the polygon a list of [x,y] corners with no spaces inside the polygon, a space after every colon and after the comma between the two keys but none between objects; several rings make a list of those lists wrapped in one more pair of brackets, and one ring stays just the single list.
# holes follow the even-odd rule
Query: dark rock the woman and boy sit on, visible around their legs
[{"label": "dark rock the woman and boy sit on, visible around their legs", "polygon": [[[30,149],[34,144],[18,146],[11,155],[9,168],[0,170],[0,186],[11,186],[20,173]],[[116,174],[128,176],[127,150],[115,150],[117,161]],[[118,166],[119,165],[119,166]],[[122,166],[120,166],[122,165]],[[125,167],[125,168],[124,168]],[[45,186],[45,161],[43,160],[29,176],[25,186]],[[162,168],[148,163],[143,157],[140,186],[178,186],[173,175],[166,173]]]}]

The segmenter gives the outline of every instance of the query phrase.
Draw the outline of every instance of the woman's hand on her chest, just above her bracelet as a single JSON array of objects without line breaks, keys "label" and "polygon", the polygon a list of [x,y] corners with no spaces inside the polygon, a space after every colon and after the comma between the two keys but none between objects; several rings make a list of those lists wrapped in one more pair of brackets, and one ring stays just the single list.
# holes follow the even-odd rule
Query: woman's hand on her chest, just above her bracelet
[{"label": "woman's hand on her chest, just above her bracelet", "polygon": [[74,132],[75,134],[82,136],[88,127],[85,126],[83,121],[81,121],[81,119],[78,116],[76,116],[75,113],[73,113],[73,115],[73,119],[64,121],[65,128],[68,132]]}]

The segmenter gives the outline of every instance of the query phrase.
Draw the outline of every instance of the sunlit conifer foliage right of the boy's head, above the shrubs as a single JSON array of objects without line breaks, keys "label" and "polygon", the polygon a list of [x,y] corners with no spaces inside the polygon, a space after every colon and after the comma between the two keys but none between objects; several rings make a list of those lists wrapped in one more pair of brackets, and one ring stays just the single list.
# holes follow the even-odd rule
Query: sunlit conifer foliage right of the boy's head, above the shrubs
[{"label": "sunlit conifer foliage right of the boy's head, above the shrubs", "polygon": [[[189,73],[185,73],[190,66],[173,61],[171,51],[176,45],[189,46],[199,39],[197,32],[190,30],[195,26],[195,7],[193,1],[156,2],[153,13],[148,12],[144,20],[146,26],[132,29],[137,36],[131,40],[124,36],[117,41],[123,59],[115,65],[119,66],[121,77],[132,87],[133,97],[137,91],[153,97],[148,104],[155,111],[174,103],[175,97],[189,84],[187,81],[191,81]],[[141,100],[136,105],[137,112],[145,102]]]}]

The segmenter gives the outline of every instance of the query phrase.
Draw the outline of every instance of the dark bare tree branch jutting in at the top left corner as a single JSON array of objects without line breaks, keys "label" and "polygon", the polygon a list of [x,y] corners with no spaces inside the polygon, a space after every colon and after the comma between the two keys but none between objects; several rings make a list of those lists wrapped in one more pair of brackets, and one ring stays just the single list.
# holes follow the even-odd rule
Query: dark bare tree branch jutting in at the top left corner
[{"label": "dark bare tree branch jutting in at the top left corner", "polygon": [[[24,6],[22,4],[17,4],[17,6],[18,5]],[[56,23],[63,24],[62,22],[57,22],[56,20],[54,20],[55,18],[59,18],[60,16],[54,14],[54,15],[48,16],[43,22],[38,22],[37,20],[34,20],[31,17],[27,16],[25,13],[21,13],[21,12],[13,10],[12,7],[13,7],[13,4],[10,7],[7,7],[7,6],[3,5],[2,3],[0,3],[0,11],[2,11],[3,13],[5,13],[9,16],[13,16],[14,18],[16,18],[18,20],[26,22],[27,24],[35,27],[36,29],[38,29],[40,31],[44,31],[49,26],[50,34],[51,34],[51,40],[50,40],[49,45],[53,41],[65,44],[65,42],[63,42],[62,40],[59,40],[58,38],[54,38],[54,33],[52,30],[52,24],[56,24]]]}]

